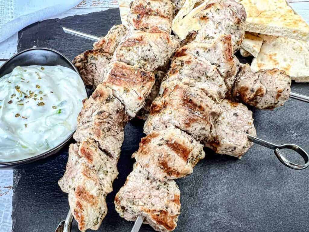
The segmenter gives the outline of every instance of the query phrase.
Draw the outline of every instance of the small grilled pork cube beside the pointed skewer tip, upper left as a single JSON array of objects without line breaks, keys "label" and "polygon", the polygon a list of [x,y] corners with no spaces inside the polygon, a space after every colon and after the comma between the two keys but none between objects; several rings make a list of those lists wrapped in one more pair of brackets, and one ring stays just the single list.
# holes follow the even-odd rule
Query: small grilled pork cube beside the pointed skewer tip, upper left
[{"label": "small grilled pork cube beside the pointed skewer tip, upper left", "polygon": [[114,25],[106,36],[93,44],[93,49],[112,55],[127,32],[128,29],[124,25]]}]

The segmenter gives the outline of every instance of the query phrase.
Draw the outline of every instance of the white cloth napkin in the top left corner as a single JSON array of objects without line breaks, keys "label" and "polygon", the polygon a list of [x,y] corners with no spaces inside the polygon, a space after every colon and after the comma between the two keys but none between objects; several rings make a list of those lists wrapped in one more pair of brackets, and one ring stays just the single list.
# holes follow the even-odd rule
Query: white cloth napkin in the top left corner
[{"label": "white cloth napkin in the top left corner", "polygon": [[0,42],[28,25],[61,14],[81,0],[0,0]]}]

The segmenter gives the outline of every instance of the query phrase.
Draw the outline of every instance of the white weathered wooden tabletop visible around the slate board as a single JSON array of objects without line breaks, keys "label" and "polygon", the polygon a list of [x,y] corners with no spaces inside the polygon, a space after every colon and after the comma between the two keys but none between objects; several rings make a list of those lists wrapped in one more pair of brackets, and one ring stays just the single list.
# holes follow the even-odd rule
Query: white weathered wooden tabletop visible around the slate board
[{"label": "white weathered wooden tabletop visible around the slate board", "polygon": [[[309,24],[309,0],[289,1],[294,10]],[[83,0],[69,11],[54,18],[65,18],[72,15],[83,15],[91,12],[105,11],[109,8],[118,8],[117,0]],[[18,33],[0,43],[0,65],[17,53]],[[0,212],[0,231],[10,232],[12,227],[12,196],[13,170],[0,170],[0,208],[7,210]]]}]

